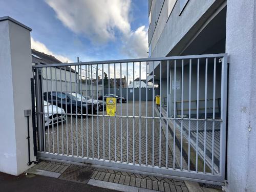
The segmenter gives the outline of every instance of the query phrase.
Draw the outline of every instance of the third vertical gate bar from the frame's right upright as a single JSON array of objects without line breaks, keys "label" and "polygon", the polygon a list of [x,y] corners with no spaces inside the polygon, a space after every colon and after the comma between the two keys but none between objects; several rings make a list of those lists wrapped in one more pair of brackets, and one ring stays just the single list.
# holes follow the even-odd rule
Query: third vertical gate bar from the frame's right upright
[{"label": "third vertical gate bar from the frame's right upright", "polygon": [[199,118],[199,62],[200,59],[197,59],[197,142],[196,142],[196,172],[198,172],[198,118]]}]

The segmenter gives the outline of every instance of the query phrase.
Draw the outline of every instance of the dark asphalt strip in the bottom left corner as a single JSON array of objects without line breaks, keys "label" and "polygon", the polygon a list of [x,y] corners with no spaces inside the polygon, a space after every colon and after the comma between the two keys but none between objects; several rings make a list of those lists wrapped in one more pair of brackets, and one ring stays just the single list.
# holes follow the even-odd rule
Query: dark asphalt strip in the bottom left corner
[{"label": "dark asphalt strip in the bottom left corner", "polygon": [[34,174],[12,176],[0,172],[1,191],[5,192],[41,192],[41,191],[115,191],[106,188],[64,181]]}]

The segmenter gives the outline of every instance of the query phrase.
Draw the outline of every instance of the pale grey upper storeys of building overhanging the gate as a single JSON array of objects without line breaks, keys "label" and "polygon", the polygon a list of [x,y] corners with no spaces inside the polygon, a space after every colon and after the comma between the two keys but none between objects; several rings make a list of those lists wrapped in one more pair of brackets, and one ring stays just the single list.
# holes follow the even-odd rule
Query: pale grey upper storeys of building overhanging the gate
[{"label": "pale grey upper storeys of building overhanging the gate", "polygon": [[[224,0],[197,0],[188,1],[183,12],[180,14],[180,3],[178,0],[176,5],[168,17],[167,1],[152,2],[151,12],[161,7],[159,15],[152,14],[151,23],[157,22],[154,34],[151,34],[151,26],[148,30],[148,45],[150,47],[151,57],[165,57],[170,55],[180,55],[188,42],[196,35],[206,20],[214,14],[216,9],[220,7]],[[189,32],[189,33],[188,33]],[[179,46],[177,48],[177,45]],[[201,53],[200,53],[201,54]],[[155,68],[158,63],[155,63]],[[150,64],[149,72],[153,67]]]}]

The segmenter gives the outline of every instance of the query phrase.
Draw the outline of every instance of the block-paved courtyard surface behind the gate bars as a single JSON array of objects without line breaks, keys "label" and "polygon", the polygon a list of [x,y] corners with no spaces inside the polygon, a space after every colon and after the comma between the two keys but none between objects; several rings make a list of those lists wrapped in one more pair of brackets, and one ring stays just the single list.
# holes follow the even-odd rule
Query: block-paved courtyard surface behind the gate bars
[{"label": "block-paved courtyard surface behind the gate bars", "polygon": [[[120,108],[118,103],[117,115],[121,115]],[[134,105],[122,104],[122,118],[68,116],[65,123],[46,129],[46,151],[157,166],[166,166],[167,156],[168,166],[173,167],[173,152],[168,147],[166,155],[166,139],[162,129],[159,131],[159,120],[127,117],[133,116],[133,109],[134,116],[152,116],[152,101],[148,101],[147,114],[145,108],[145,101],[141,101],[139,111],[139,101],[135,101]]]}]

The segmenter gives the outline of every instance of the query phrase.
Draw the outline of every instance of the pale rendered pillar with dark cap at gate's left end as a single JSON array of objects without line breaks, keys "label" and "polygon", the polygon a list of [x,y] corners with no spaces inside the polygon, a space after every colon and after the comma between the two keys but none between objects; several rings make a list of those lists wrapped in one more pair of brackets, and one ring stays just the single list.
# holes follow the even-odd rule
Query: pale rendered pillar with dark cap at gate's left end
[{"label": "pale rendered pillar with dark cap at gate's left end", "polygon": [[[31,110],[30,28],[0,17],[0,172],[19,175],[28,163],[27,118]],[[33,155],[30,116],[31,161]]]}]

